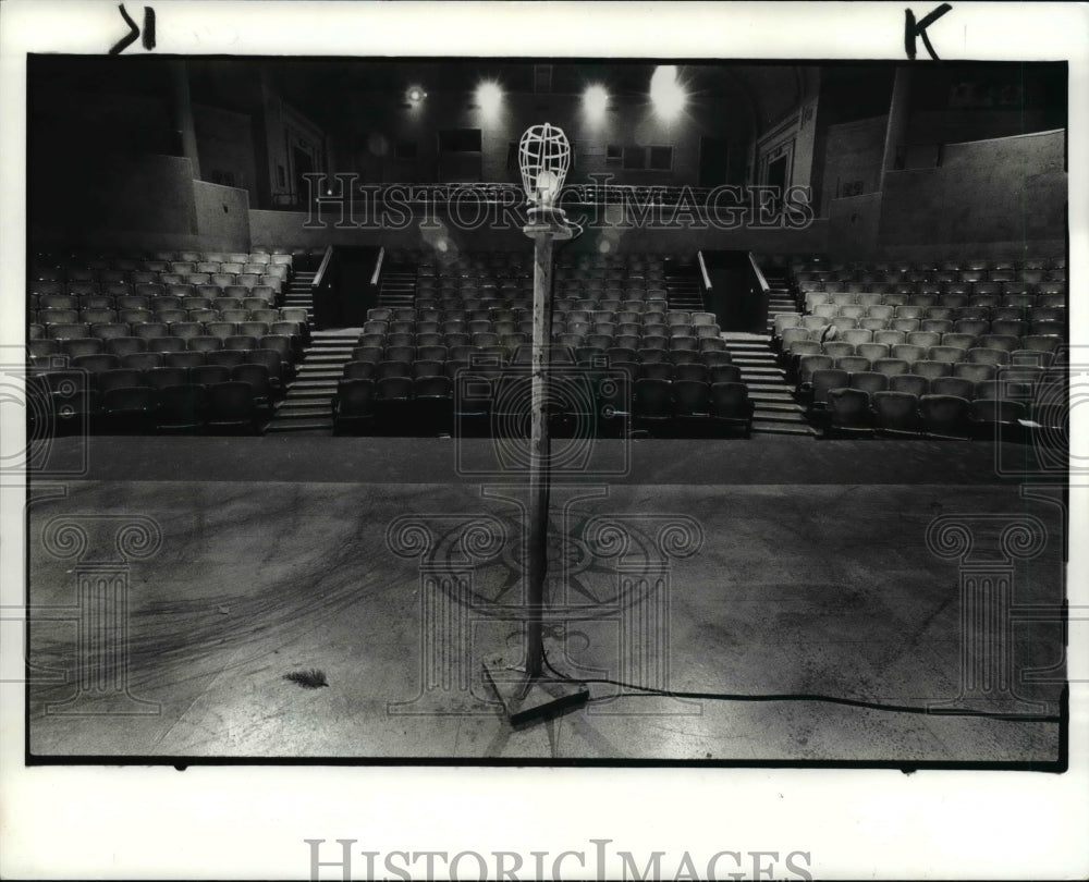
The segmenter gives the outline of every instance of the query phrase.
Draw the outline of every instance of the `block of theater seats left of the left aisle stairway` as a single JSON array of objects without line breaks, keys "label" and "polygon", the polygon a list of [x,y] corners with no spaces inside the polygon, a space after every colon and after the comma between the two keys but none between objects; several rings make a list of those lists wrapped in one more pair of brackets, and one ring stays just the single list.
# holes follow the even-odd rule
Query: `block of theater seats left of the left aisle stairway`
[{"label": "block of theater seats left of the left aisle stairway", "polygon": [[28,272],[38,433],[257,431],[291,379],[305,310],[287,252],[39,254]]}]

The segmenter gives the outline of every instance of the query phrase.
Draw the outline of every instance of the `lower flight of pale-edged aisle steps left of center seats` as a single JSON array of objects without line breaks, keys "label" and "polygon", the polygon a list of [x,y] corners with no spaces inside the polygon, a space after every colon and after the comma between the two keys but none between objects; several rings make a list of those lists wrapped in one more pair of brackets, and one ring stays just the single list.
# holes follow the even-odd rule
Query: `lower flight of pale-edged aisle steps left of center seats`
[{"label": "lower flight of pale-edged aisle steps left of center seats", "polygon": [[360,328],[338,328],[310,332],[310,343],[296,365],[295,379],[287,383],[287,394],[277,405],[267,434],[332,432],[332,396],[344,365],[352,359],[352,348],[360,331]]}]

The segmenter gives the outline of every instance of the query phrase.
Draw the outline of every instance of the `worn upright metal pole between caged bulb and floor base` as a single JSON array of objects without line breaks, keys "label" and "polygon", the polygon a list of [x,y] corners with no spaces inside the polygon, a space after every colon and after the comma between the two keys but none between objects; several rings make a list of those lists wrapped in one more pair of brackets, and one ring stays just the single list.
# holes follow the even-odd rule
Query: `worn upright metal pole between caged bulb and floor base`
[{"label": "worn upright metal pole between caged bulb and floor base", "polygon": [[534,232],[533,392],[529,427],[529,614],[526,676],[543,660],[544,578],[548,574],[549,437],[548,369],[552,338],[552,235]]}]

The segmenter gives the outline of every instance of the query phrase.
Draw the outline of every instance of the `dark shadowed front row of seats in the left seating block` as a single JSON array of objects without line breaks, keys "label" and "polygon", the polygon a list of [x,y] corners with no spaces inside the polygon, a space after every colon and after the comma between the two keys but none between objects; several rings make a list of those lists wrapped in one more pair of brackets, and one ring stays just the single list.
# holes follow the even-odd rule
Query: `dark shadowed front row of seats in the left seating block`
[{"label": "dark shadowed front row of seats in the left seating block", "polygon": [[274,396],[261,364],[56,370],[27,378],[32,437],[257,433]]}]

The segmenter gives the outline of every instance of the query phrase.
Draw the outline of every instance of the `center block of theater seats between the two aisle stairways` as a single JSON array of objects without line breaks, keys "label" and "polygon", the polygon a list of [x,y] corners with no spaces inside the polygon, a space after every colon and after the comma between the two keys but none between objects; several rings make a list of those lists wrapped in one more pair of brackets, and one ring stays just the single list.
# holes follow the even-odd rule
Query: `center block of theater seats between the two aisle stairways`
[{"label": "center block of theater seats between the two aisle stairways", "polygon": [[[412,307],[372,309],[334,401],[343,432],[525,436],[533,273],[521,253],[417,266]],[[747,432],[752,405],[714,316],[669,308],[660,255],[556,260],[550,415],[559,436]]]}]

